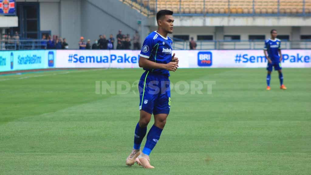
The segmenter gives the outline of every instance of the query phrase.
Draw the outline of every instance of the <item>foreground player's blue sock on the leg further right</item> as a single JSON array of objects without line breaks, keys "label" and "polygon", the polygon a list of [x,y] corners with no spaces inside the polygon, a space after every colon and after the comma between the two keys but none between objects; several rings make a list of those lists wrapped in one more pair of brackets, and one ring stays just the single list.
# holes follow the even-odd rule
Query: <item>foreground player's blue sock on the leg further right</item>
[{"label": "foreground player's blue sock on the leg further right", "polygon": [[156,146],[156,143],[159,141],[161,133],[162,129],[156,127],[155,125],[152,125],[147,135],[145,148],[142,150],[144,154],[148,156],[150,155],[152,149]]}]

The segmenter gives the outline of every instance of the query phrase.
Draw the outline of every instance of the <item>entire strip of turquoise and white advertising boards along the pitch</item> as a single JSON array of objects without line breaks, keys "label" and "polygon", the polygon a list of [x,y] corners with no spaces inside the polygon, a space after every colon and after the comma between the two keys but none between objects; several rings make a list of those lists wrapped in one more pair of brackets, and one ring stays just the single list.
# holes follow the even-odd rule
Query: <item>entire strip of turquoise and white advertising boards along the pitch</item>
[{"label": "entire strip of turquoise and white advertising boards along the pitch", "polygon": [[[139,68],[140,50],[1,51],[0,72],[48,68]],[[265,68],[262,50],[174,50],[179,68]],[[282,50],[284,68],[310,68],[311,50]]]}]

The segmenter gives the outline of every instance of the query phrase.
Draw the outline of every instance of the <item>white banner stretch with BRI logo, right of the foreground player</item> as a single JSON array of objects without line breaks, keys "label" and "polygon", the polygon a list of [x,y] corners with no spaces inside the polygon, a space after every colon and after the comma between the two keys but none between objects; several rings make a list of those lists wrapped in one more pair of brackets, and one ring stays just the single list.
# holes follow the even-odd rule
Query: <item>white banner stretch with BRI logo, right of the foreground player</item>
[{"label": "white banner stretch with BRI logo, right of the foreground player", "polygon": [[[175,50],[179,68],[265,68],[263,50]],[[282,50],[282,67],[311,67],[311,50]]]}]

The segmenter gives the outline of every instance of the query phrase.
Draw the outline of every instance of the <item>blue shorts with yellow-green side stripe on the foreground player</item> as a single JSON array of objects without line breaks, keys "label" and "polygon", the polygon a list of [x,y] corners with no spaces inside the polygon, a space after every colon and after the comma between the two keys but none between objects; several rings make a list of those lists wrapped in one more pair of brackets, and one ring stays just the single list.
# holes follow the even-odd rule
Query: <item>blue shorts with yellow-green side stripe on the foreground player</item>
[{"label": "blue shorts with yellow-green side stripe on the foreground player", "polygon": [[170,81],[168,75],[151,73],[142,74],[139,84],[139,110],[150,114],[169,114],[171,105]]}]

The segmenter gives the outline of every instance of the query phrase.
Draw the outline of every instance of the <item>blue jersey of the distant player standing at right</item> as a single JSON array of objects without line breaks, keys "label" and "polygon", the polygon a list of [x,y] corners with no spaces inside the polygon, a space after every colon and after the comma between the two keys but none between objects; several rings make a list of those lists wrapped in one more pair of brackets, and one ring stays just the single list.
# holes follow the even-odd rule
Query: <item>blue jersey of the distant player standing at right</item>
[{"label": "blue jersey of the distant player standing at right", "polygon": [[280,62],[279,50],[281,49],[281,40],[279,39],[269,39],[265,42],[264,50],[267,50],[269,58],[273,63]]}]

